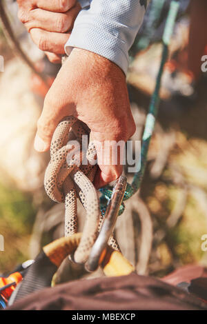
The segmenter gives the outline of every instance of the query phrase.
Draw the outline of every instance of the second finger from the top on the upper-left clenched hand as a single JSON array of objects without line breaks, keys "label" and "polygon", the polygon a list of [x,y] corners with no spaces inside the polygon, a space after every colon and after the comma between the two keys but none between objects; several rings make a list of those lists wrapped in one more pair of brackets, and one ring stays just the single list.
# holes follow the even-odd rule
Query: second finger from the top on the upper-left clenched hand
[{"label": "second finger from the top on the upper-left clenched hand", "polygon": [[25,24],[28,32],[32,28],[41,28],[48,32],[66,33],[68,30],[72,30],[79,10],[79,6],[74,6],[65,13],[50,12],[37,8],[30,11],[28,19],[21,17],[21,22]]}]

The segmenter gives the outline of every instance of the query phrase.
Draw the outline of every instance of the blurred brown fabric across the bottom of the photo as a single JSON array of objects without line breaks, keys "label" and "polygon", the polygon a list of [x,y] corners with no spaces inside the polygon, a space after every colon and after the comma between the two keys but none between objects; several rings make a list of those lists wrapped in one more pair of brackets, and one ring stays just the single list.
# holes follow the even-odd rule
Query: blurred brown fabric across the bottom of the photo
[{"label": "blurred brown fabric across the bottom of the photo", "polygon": [[180,288],[133,273],[49,287],[8,310],[207,310],[207,305]]}]

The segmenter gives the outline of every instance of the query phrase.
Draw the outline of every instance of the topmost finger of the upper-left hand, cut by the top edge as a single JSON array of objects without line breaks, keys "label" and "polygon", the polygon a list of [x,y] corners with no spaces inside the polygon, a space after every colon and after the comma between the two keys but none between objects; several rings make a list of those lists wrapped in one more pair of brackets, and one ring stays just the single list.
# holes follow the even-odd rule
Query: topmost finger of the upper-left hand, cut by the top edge
[{"label": "topmost finger of the upper-left hand, cut by the top edge", "polygon": [[54,12],[66,12],[73,6],[75,6],[76,0],[36,0],[37,7],[54,11]]}]

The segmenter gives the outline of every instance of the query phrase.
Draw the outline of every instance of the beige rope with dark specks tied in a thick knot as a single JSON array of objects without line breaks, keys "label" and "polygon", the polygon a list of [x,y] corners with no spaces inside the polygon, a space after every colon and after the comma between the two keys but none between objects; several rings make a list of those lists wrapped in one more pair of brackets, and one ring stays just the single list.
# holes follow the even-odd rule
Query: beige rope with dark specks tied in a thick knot
[{"label": "beige rope with dark specks tied in a thick knot", "polygon": [[[66,205],[66,236],[77,233],[77,198],[86,209],[83,235],[74,255],[77,263],[87,261],[103,221],[99,210],[99,196],[92,184],[97,172],[96,150],[90,142],[88,150],[83,152],[83,135],[89,135],[88,128],[75,117],[66,117],[59,123],[52,136],[51,159],[44,181],[50,199]],[[83,158],[87,159],[87,163],[83,164]],[[118,249],[113,237],[110,238],[110,245]]]}]

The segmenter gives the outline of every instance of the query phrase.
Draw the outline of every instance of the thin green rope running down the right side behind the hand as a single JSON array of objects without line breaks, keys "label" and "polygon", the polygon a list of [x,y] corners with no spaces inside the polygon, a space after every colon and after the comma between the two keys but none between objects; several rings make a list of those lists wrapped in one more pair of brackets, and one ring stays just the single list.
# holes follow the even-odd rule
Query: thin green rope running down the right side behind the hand
[{"label": "thin green rope running down the right side behind the hand", "polygon": [[[179,10],[179,2],[172,0],[170,3],[170,10],[168,12],[164,35],[162,38],[163,50],[162,50],[162,55],[161,55],[161,63],[159,66],[159,72],[157,74],[155,91],[153,92],[152,98],[150,100],[149,111],[148,111],[148,115],[146,117],[146,125],[144,128],[144,134],[142,136],[141,168],[140,168],[140,170],[137,170],[137,172],[135,172],[135,175],[133,176],[133,179],[132,179],[132,183],[131,184],[128,183],[128,185],[126,187],[126,192],[124,194],[123,201],[126,201],[127,199],[129,199],[133,194],[135,194],[135,192],[137,192],[137,190],[139,190],[141,181],[144,176],[144,172],[146,170],[148,148],[150,145],[152,133],[155,128],[155,121],[156,121],[157,110],[158,110],[158,106],[159,106],[159,90],[161,87],[161,77],[164,72],[164,65],[168,59],[168,45],[170,43],[173,28],[175,26],[175,19],[177,17],[178,10]],[[106,212],[107,203],[112,196],[112,188],[110,188],[110,187],[101,188],[100,192],[102,194],[101,198],[100,198],[101,213],[104,215]],[[124,203],[121,204],[119,214],[122,214],[122,212],[124,212]]]}]

